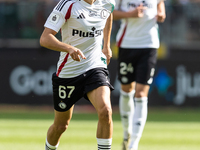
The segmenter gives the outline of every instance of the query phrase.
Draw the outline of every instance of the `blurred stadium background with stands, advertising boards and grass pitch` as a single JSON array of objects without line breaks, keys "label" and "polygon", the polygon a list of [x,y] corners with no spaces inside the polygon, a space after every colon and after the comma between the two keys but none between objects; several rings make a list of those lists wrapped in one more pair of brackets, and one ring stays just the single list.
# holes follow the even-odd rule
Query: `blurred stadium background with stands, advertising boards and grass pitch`
[{"label": "blurred stadium background with stands, advertising boards and grass pitch", "polygon": [[[39,37],[57,2],[0,0],[0,149],[44,149],[54,118],[51,74],[59,53],[41,48]],[[166,12],[165,23],[159,24],[161,47],[139,150],[199,150],[200,2],[166,0]],[[116,79],[118,25],[113,24],[108,66],[115,87],[112,150],[121,150],[123,138]],[[80,101],[58,150],[95,150],[97,120],[90,103]]]}]

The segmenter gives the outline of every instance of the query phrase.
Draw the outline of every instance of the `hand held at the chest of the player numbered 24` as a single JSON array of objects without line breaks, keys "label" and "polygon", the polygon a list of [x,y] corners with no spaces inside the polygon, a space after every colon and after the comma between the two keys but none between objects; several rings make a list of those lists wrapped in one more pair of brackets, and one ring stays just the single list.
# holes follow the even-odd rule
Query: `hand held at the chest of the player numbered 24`
[{"label": "hand held at the chest of the player numbered 24", "polygon": [[147,7],[144,7],[143,4],[140,4],[136,9],[129,11],[129,16],[134,18],[141,18],[144,16],[144,11]]}]

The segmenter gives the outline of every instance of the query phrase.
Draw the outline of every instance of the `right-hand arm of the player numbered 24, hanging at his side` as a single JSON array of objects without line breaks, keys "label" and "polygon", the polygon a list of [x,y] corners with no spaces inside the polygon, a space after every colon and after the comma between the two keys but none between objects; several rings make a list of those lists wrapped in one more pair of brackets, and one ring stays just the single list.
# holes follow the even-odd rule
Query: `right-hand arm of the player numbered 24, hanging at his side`
[{"label": "right-hand arm of the player numbered 24, hanging at his side", "polygon": [[166,18],[166,13],[165,13],[165,2],[161,1],[157,5],[157,22],[164,22]]}]

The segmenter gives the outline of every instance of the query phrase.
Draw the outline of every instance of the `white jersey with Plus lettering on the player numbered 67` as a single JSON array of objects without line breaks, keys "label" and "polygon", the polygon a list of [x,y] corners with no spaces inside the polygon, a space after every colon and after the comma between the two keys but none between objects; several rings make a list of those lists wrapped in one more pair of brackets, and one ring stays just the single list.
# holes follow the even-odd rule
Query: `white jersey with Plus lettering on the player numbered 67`
[{"label": "white jersey with Plus lettering on the player numbered 67", "polygon": [[80,49],[86,57],[78,62],[61,52],[58,77],[71,78],[93,68],[107,68],[102,53],[103,29],[114,4],[114,0],[96,0],[92,5],[84,0],[61,0],[55,6],[44,26],[56,32],[61,29],[62,42]]}]

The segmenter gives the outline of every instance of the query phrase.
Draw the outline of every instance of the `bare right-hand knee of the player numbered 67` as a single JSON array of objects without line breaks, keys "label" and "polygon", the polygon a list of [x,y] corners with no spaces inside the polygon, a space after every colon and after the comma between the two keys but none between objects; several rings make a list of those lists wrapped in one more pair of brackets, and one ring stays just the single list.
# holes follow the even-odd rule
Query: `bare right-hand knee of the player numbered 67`
[{"label": "bare right-hand knee of the player numbered 67", "polygon": [[112,109],[104,106],[99,110],[98,116],[99,120],[110,122],[112,120]]}]

